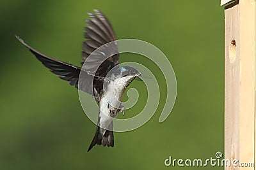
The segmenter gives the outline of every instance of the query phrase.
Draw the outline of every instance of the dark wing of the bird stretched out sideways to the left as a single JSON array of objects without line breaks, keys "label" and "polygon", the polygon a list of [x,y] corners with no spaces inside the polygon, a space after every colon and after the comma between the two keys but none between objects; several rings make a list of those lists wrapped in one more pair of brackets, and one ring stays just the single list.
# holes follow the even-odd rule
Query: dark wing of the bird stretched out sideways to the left
[{"label": "dark wing of the bird stretched out sideways to the left", "polygon": [[[36,59],[40,60],[45,67],[49,68],[52,73],[57,74],[61,79],[68,81],[70,85],[77,89],[92,94],[92,74],[88,74],[88,72],[81,70],[81,67],[52,59],[27,45],[21,38],[19,38],[19,36],[16,36],[16,38],[35,55]],[[78,81],[80,73],[83,74],[83,76],[80,76],[81,80]]]}]

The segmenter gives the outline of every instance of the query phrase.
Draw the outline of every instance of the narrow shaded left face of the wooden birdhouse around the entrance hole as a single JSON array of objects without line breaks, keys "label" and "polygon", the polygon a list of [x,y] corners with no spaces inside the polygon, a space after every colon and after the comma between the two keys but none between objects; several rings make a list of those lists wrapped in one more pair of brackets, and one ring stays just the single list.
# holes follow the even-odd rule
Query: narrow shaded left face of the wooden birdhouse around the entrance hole
[{"label": "narrow shaded left face of the wooden birdhouse around the entrance hole", "polygon": [[[239,157],[240,41],[238,4],[225,10],[225,159]],[[236,41],[236,60],[230,62],[230,43]],[[229,169],[226,167],[225,169]]]}]

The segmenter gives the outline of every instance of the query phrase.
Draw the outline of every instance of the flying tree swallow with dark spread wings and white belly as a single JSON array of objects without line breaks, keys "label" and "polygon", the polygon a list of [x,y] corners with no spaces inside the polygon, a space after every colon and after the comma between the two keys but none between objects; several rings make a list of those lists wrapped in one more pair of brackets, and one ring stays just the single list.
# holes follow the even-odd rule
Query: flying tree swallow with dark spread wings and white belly
[{"label": "flying tree swallow with dark spread wings and white belly", "polygon": [[[48,57],[16,36],[52,73],[78,90],[91,94],[99,104],[98,125],[88,152],[96,144],[114,146],[113,118],[120,112],[124,114],[124,105],[120,101],[125,89],[132,80],[141,76],[134,67],[118,66],[119,55],[113,28],[102,12],[94,11],[95,14],[88,13],[90,19],[86,19],[88,26],[85,27],[86,41],[83,42],[82,52],[82,65],[86,62],[84,67]],[[109,42],[111,44],[106,45]]]}]

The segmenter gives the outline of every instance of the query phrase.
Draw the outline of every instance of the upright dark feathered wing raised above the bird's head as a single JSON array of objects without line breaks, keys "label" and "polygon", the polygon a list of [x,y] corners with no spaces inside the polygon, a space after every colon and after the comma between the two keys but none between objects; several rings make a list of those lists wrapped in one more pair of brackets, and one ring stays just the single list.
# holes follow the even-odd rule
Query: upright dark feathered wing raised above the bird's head
[{"label": "upright dark feathered wing raised above the bird's head", "polygon": [[[115,32],[108,18],[99,10],[94,11],[95,14],[88,13],[90,19],[86,19],[88,26],[85,27],[86,41],[83,42],[82,64],[86,61],[84,69],[97,76],[105,77],[113,67],[118,65],[119,55]],[[105,45],[106,43],[108,45]]]}]

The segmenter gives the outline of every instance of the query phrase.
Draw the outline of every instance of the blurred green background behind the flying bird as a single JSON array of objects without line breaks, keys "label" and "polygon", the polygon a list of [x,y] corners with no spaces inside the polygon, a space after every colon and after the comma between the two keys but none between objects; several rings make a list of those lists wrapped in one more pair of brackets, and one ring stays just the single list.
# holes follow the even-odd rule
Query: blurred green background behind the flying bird
[{"label": "blurred green background behind the flying bird", "polygon": [[[163,95],[147,124],[115,132],[114,148],[95,146],[87,153],[95,125],[84,115],[77,90],[47,71],[14,34],[46,55],[79,65],[84,19],[95,8],[109,18],[118,39],[141,39],[162,50],[172,63],[178,90],[165,122],[158,122]],[[166,167],[164,160],[208,159],[223,153],[220,1],[1,0],[0,14],[0,169],[198,169]],[[130,60],[124,56],[121,62]],[[164,94],[164,82],[159,83]],[[140,82],[131,85],[138,86]],[[143,103],[143,97],[140,100]],[[136,115],[136,110],[140,107],[125,114]]]}]

